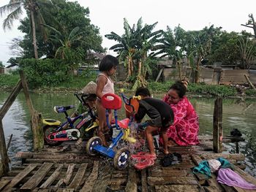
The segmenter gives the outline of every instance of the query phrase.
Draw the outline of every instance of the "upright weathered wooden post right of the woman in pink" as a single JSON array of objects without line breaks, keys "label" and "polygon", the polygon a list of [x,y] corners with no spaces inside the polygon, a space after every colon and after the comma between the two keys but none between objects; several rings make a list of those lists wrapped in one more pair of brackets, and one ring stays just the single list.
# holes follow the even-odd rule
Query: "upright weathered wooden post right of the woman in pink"
[{"label": "upright weathered wooden post right of the woman in pink", "polygon": [[222,153],[222,98],[217,98],[214,101],[214,152]]}]

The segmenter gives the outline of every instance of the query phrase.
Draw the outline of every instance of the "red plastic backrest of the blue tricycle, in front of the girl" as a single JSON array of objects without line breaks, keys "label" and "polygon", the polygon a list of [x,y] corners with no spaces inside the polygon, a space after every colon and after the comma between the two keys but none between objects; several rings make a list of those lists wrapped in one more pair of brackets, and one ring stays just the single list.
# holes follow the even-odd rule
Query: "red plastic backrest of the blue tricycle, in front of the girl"
[{"label": "red plastic backrest of the blue tricycle, in front of the girl", "polygon": [[121,109],[121,98],[113,93],[106,93],[102,96],[102,106],[108,110]]}]

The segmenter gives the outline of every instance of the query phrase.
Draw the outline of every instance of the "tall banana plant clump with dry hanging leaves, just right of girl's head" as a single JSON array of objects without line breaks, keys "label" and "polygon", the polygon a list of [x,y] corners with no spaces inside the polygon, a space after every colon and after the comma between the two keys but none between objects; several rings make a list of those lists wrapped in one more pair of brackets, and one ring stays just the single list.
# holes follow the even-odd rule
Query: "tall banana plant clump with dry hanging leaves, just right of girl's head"
[{"label": "tall banana plant clump with dry hanging leaves, just right of girl's head", "polygon": [[118,42],[110,49],[118,53],[119,61],[124,61],[128,69],[127,80],[135,82],[134,88],[146,85],[146,74],[151,72],[149,66],[155,63],[154,56],[149,53],[162,35],[162,30],[153,32],[156,25],[157,23],[143,26],[142,18],[140,18],[131,27],[124,18],[123,35],[119,36],[113,31],[105,35],[108,39]]}]

